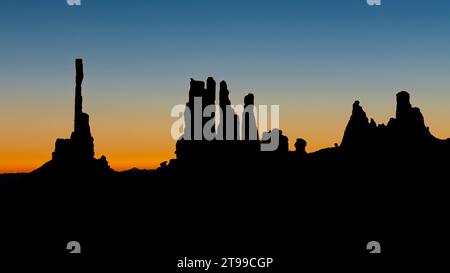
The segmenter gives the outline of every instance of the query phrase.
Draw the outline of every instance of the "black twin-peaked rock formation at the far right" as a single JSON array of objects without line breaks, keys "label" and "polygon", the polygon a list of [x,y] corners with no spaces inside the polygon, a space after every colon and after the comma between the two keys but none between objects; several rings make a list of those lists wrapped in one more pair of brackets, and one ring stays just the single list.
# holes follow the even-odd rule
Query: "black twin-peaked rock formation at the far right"
[{"label": "black twin-peaked rock formation at the far right", "polygon": [[373,119],[369,122],[359,101],[355,101],[341,148],[346,154],[417,157],[439,152],[434,150],[442,144],[445,141],[434,137],[425,126],[420,109],[411,106],[408,92],[401,91],[397,94],[396,117],[387,125],[377,125]]}]

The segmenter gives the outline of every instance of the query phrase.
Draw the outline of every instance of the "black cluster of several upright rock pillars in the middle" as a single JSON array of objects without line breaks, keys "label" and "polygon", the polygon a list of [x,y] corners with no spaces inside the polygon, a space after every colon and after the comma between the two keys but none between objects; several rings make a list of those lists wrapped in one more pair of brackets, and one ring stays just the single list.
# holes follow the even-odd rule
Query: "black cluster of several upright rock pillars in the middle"
[{"label": "black cluster of several upright rock pillars in the middle", "polygon": [[[211,125],[215,125],[212,119],[214,116],[201,119],[195,119],[195,115],[201,115],[198,111],[204,111],[205,107],[215,104],[216,82],[213,78],[208,78],[207,88],[202,81],[191,79],[189,90],[189,101],[186,103],[185,112],[185,130],[184,135],[177,141],[175,154],[176,161],[171,164],[161,166],[159,170],[167,171],[173,168],[181,172],[193,172],[202,169],[204,172],[214,172],[229,166],[236,170],[236,166],[255,164],[254,161],[260,154],[261,142],[258,138],[256,120],[254,111],[254,96],[249,94],[245,97],[245,106],[248,107],[244,112],[246,126],[243,123],[243,139],[240,139],[239,117],[231,107],[227,84],[225,81],[220,83],[219,107],[221,109],[220,123],[217,126],[217,132],[210,130],[215,136],[212,140],[199,136],[203,128],[207,125],[208,131]],[[196,107],[195,101],[201,99],[202,107]],[[186,115],[187,113],[190,114]],[[213,113],[216,114],[216,113]],[[190,122],[188,122],[190,121]],[[208,126],[209,125],[209,126]],[[197,131],[197,132],[194,132]],[[217,134],[216,134],[217,133]],[[197,134],[197,135],[196,135]],[[287,143],[287,141],[286,141]],[[287,150],[287,148],[286,148]]]}]

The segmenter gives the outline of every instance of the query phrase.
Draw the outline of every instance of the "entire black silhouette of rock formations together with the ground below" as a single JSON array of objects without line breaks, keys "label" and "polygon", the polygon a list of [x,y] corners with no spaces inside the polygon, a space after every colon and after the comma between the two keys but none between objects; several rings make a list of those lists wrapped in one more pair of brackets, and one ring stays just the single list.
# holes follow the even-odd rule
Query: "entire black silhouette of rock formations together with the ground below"
[{"label": "entire black silhouette of rock formations together with the ground below", "polygon": [[[58,139],[51,161],[3,187],[4,208],[12,208],[4,233],[11,252],[34,242],[42,253],[60,253],[75,238],[93,256],[140,253],[166,268],[176,269],[176,256],[236,251],[279,257],[280,268],[296,266],[299,255],[312,263],[365,253],[370,240],[402,255],[427,255],[448,242],[450,140],[432,135],[405,91],[386,125],[369,120],[355,101],[341,144],[307,153],[302,138],[289,151],[279,128],[260,138],[252,111],[242,120],[227,112],[225,81],[221,122],[215,126],[220,112],[213,112],[195,124],[195,99],[202,99],[201,111],[216,104],[216,81],[191,79],[185,118],[192,120],[176,142],[176,158],[158,170],[115,172],[105,157],[94,157],[82,111],[82,60],[75,64],[70,139]],[[253,94],[245,96],[245,106],[254,104]],[[222,139],[195,137],[196,126],[211,123]],[[278,148],[261,151],[273,137]]]}]

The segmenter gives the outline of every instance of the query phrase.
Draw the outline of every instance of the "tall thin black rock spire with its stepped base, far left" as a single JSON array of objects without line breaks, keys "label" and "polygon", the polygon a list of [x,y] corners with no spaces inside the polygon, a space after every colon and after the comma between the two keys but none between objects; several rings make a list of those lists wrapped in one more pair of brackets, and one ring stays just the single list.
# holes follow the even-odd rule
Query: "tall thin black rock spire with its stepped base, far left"
[{"label": "tall thin black rock spire with its stepped base, far left", "polygon": [[57,139],[52,160],[33,173],[44,175],[90,174],[111,172],[106,157],[94,158],[94,138],[89,126],[89,115],[83,112],[81,84],[84,78],[83,60],[75,61],[74,131],[70,139]]}]

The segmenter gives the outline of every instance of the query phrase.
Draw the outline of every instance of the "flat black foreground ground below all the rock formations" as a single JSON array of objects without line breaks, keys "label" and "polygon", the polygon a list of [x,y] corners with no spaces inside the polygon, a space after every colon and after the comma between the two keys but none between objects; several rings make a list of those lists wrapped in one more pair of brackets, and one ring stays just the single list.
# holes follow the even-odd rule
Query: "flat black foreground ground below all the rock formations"
[{"label": "flat black foreground ground below all the rock formations", "polygon": [[[209,272],[448,267],[448,166],[349,161],[253,170],[26,176],[2,187],[1,249],[149,272],[204,272],[177,268],[184,257],[219,265],[221,257],[274,259],[270,268]],[[81,254],[66,250],[72,240]],[[366,250],[373,240],[381,254]]]}]

